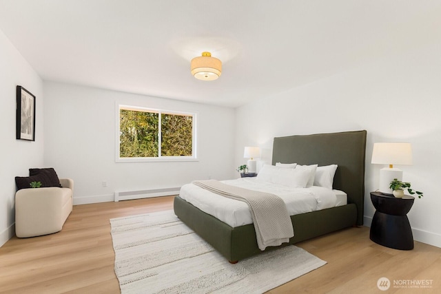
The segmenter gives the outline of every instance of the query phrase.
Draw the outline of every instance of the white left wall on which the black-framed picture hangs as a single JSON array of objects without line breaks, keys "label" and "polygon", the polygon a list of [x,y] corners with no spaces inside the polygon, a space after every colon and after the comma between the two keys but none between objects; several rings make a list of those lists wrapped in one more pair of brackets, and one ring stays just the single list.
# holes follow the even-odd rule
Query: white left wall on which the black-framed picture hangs
[{"label": "white left wall on which the black-framed picture hangs", "polygon": [[[36,96],[35,141],[16,140],[16,87]],[[15,176],[43,163],[43,82],[0,31],[0,246],[14,235]]]}]

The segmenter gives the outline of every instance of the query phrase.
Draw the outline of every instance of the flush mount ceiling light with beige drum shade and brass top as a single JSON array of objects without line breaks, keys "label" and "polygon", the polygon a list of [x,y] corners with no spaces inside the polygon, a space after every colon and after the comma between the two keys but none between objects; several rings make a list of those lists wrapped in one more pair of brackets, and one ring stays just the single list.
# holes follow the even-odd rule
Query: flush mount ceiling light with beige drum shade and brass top
[{"label": "flush mount ceiling light with beige drum shade and brass top", "polygon": [[221,73],[222,62],[210,52],[202,52],[202,56],[192,59],[192,74],[198,80],[214,81]]}]

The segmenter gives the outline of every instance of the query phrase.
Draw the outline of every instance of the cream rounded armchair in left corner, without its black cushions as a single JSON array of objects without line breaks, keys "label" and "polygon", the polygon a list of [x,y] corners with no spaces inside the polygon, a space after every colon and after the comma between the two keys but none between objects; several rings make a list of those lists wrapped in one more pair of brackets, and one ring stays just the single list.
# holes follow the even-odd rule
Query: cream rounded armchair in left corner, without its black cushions
[{"label": "cream rounded armchair in left corner, without its black cushions", "polygon": [[21,189],[15,193],[15,234],[19,238],[61,231],[72,212],[74,181],[60,179],[61,187]]}]

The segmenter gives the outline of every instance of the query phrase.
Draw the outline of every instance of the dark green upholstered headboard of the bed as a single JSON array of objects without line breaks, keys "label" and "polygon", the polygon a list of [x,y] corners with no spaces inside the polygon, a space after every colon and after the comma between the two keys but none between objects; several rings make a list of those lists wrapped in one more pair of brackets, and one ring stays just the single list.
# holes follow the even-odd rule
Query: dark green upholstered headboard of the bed
[{"label": "dark green upholstered headboard of the bed", "polygon": [[365,130],[286,136],[274,138],[273,165],[276,162],[299,165],[338,165],[334,189],[347,193],[348,203],[357,207],[357,224],[363,223],[365,199]]}]

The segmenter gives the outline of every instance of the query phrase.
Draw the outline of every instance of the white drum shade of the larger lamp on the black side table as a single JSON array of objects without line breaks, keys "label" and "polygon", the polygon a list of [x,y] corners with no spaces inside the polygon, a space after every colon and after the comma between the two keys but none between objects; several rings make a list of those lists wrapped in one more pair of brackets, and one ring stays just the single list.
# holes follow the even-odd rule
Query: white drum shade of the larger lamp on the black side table
[{"label": "white drum shade of the larger lamp on the black side table", "polygon": [[371,163],[378,165],[412,165],[411,143],[374,143]]}]

